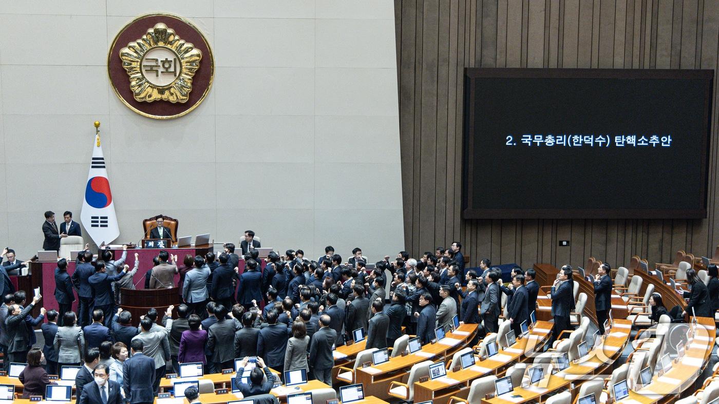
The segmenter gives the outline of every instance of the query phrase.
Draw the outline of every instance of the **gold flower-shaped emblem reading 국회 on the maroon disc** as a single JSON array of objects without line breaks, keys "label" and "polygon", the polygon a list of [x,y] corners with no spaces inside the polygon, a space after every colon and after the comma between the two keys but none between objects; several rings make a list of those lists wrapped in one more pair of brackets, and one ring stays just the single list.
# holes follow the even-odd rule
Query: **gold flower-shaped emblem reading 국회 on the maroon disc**
[{"label": "gold flower-shaped emblem reading \uad6d\ud68c on the maroon disc", "polygon": [[158,22],[144,37],[123,47],[120,59],[136,101],[185,103],[202,52]]}]

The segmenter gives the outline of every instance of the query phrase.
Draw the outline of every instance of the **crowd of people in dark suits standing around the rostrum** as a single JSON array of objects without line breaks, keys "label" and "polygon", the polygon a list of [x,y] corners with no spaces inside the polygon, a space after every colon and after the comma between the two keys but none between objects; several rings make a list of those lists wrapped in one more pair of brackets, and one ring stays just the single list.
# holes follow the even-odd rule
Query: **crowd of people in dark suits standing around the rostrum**
[{"label": "crowd of people in dark suits standing around the rostrum", "polygon": [[[72,275],[66,260],[59,260],[55,298],[60,310],[42,308],[36,318],[30,312],[40,297],[26,305],[26,293],[7,293],[12,285],[6,282],[0,306],[6,370],[10,362],[27,363],[20,375],[27,397],[42,395],[45,385],[52,384],[47,375],[57,375],[63,365],[81,365],[75,380],[78,402],[120,392],[118,403],[149,403],[168,367],[177,373],[180,363],[202,362],[205,373],[221,372],[234,368],[235,358],[246,358],[245,363],[257,357],[249,381],[235,381],[245,396],[270,390],[275,377],[268,368],[280,375],[306,369],[310,377],[331,385],[332,351],[357,329],[367,336],[367,349],[391,347],[403,334],[419,336],[427,344],[437,326],[449,329],[459,315],[461,323],[478,324],[475,344],[480,336],[497,331],[502,293],[508,295],[507,318],[517,335],[539,293],[532,269],[514,267],[508,287],[488,259],[478,271],[465,270],[459,242],[419,259],[407,252],[393,259],[385,256],[372,267],[361,249],[355,248],[344,261],[331,246],[316,261],[304,257],[302,250],[288,250],[283,256],[270,252],[260,260],[255,249],[259,243],[252,237],[252,231],[245,232],[241,274],[234,244],[224,244],[219,255],[188,254],[181,264],[178,257],[159,251],[146,272],[145,288],[177,287],[183,303],[175,316],[170,306],[160,321],[160,313],[150,309],[139,326],[132,326],[131,314],[119,308],[120,290],[135,287],[132,277],[139,270],[137,254],[132,270],[124,265],[127,250],[114,260],[109,250],[101,249],[94,257],[86,248],[78,254]],[[574,306],[572,270],[566,269],[552,288],[554,335],[570,327]],[[180,280],[175,285],[176,274]],[[78,313],[72,310],[75,293]],[[36,342],[32,329],[39,323],[45,346],[31,349]],[[195,394],[188,391],[188,400]]]}]

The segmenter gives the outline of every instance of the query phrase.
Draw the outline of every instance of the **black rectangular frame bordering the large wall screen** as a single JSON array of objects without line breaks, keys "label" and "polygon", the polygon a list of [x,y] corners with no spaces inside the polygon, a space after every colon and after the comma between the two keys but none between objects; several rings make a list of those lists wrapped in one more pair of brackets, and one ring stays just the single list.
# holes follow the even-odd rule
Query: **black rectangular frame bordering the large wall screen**
[{"label": "black rectangular frame bordering the large wall screen", "polygon": [[[704,121],[700,158],[700,196],[695,209],[566,209],[566,208],[472,208],[472,189],[481,178],[473,178],[475,160],[475,82],[480,78],[618,78],[691,79],[705,81]],[[462,219],[706,219],[710,159],[710,133],[714,71],[708,69],[560,69],[560,68],[464,68],[464,142],[462,148]],[[672,196],[667,195],[667,198]]]}]

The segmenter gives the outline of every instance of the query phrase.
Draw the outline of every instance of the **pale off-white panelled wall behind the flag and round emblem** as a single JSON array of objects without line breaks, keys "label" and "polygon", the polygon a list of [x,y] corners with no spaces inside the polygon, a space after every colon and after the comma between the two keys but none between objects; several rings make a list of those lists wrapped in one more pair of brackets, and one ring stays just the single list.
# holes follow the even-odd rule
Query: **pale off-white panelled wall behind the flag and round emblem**
[{"label": "pale off-white panelled wall behind the flag and round emblem", "polygon": [[[157,11],[190,19],[216,57],[209,96],[170,121],[127,109],[106,73],[114,35]],[[327,244],[343,257],[357,246],[370,260],[394,255],[404,244],[396,68],[388,0],[2,1],[0,247],[21,258],[40,249],[46,210],[79,221],[99,120],[117,242],[164,213],[180,236],[237,243],[252,229],[264,247],[311,257]],[[138,178],[157,153],[173,175]]]}]

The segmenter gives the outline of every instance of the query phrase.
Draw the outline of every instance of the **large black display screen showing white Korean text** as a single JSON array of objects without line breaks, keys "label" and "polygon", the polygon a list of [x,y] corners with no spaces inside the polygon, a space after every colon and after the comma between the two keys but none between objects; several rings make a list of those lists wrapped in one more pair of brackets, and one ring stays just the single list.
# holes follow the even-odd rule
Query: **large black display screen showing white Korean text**
[{"label": "large black display screen showing white Korean text", "polygon": [[463,217],[706,217],[712,82],[712,70],[466,69]]}]

